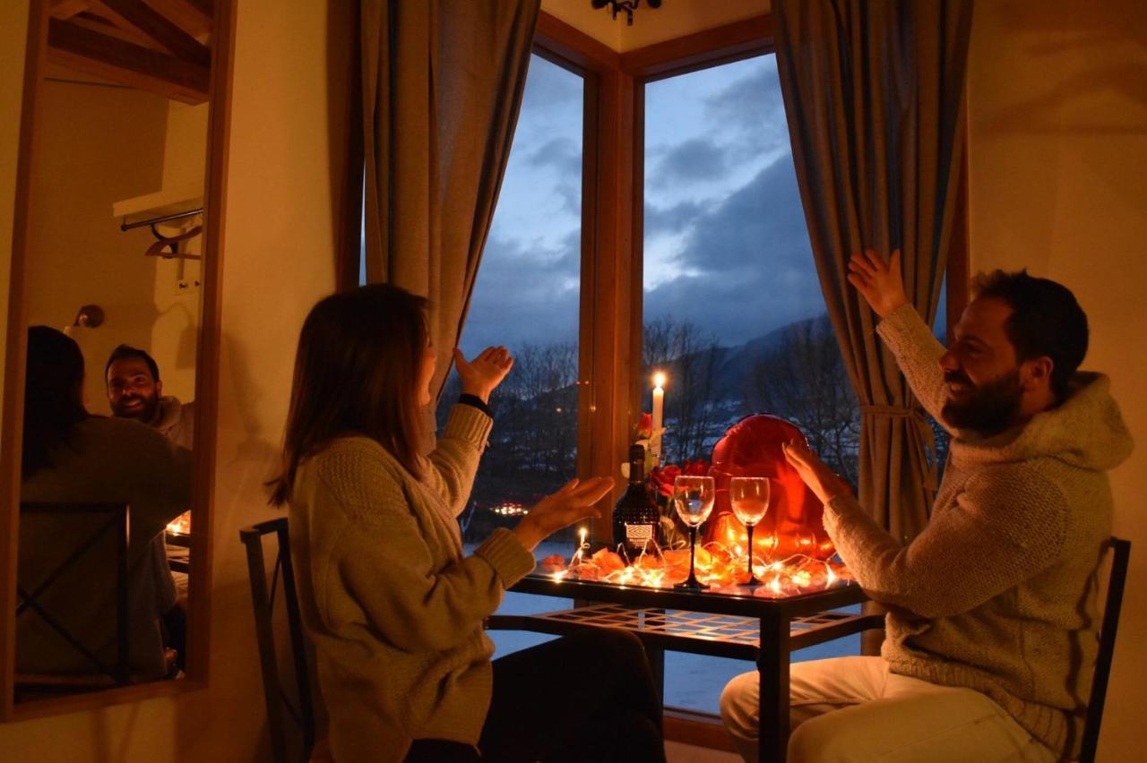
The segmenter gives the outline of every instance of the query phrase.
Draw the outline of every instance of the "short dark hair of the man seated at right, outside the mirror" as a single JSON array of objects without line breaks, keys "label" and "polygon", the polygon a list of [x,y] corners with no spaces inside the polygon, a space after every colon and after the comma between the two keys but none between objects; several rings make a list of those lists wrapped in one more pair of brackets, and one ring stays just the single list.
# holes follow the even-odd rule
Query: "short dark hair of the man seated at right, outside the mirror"
[{"label": "short dark hair of the man seated at right, outside the mirror", "polygon": [[1063,284],[1019,273],[981,273],[972,282],[976,299],[990,297],[1012,307],[1004,324],[1016,359],[1052,359],[1052,393],[1067,396],[1071,376],[1087,354],[1087,315]]}]

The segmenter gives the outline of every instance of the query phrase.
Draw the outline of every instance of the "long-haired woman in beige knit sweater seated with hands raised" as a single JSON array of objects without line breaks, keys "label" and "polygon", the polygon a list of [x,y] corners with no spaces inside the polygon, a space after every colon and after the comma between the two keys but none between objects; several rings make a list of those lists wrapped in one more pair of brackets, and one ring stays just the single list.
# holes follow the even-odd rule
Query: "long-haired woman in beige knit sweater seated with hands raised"
[{"label": "long-haired woman in beige knit sweater seated with hands raised", "polygon": [[598,516],[612,481],[574,480],[463,556],[455,518],[513,360],[501,347],[473,361],[454,351],[462,395],[420,456],[435,370],[424,310],[401,289],[362,286],[315,305],[299,337],[271,502],[290,504],[335,760],[664,760],[648,663],[629,634],[491,663],[483,619],[533,568],[541,540]]}]

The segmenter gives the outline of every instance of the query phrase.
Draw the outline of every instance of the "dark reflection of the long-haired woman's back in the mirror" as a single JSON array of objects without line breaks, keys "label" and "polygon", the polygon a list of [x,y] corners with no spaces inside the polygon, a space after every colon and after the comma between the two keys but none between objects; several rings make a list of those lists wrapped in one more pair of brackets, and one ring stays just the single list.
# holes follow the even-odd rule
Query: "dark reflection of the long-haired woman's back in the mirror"
[{"label": "dark reflection of the long-haired woman's back in the mirror", "polygon": [[[84,406],[84,356],[55,329],[28,330],[21,502],[126,503],[128,661],[133,681],[167,674],[161,616],[175,603],[163,529],[192,497],[192,453],[132,420],[92,416]],[[67,542],[67,525],[29,524],[21,532],[22,577],[37,577],[48,549]],[[85,564],[114,565],[114,558]],[[83,568],[72,585],[54,584],[44,604],[96,654],[115,654],[116,599],[93,596]],[[92,662],[30,609],[17,619],[18,672],[93,672]]]}]

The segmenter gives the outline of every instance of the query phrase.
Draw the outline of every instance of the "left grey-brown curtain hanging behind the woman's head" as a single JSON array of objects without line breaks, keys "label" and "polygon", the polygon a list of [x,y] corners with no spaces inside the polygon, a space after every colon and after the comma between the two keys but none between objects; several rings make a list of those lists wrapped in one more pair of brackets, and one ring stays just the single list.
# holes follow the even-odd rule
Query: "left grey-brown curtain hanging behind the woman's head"
[{"label": "left grey-brown curtain hanging behind the woman's head", "polygon": [[[430,300],[439,393],[509,158],[539,8],[361,0],[367,281]],[[432,411],[426,423],[432,433]]]}]

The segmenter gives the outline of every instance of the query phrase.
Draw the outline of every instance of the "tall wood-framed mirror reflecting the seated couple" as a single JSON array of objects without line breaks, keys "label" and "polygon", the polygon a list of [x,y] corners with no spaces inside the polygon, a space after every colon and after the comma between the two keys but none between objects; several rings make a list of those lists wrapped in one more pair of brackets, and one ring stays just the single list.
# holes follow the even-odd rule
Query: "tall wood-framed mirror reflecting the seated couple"
[{"label": "tall wood-framed mirror reflecting the seated couple", "polygon": [[19,480],[5,716],[205,676],[197,439],[213,430],[197,424],[213,425],[200,400],[217,341],[203,330],[221,217],[209,170],[225,158],[209,147],[229,71],[212,47],[232,25],[221,0],[32,7],[5,377],[3,469]]}]

